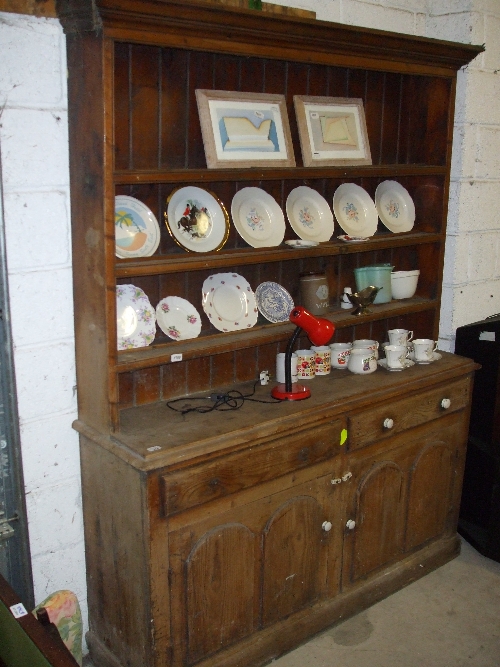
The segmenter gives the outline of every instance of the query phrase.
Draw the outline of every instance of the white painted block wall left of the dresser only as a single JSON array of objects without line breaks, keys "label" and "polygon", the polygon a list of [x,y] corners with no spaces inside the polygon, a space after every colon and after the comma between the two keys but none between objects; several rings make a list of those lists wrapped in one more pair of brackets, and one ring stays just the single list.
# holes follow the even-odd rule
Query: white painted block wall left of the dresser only
[{"label": "white painted block wall left of the dresser only", "polygon": [[76,418],[66,44],[55,19],[0,12],[0,158],[35,600],[86,615]]}]

